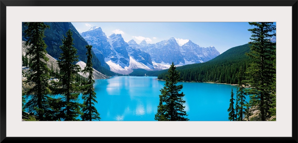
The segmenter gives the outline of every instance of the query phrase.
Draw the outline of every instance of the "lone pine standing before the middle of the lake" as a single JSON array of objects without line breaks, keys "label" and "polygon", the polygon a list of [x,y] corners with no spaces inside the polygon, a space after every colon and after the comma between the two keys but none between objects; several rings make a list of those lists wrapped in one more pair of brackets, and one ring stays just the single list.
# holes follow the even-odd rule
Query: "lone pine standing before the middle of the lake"
[{"label": "lone pine standing before the middle of the lake", "polygon": [[183,85],[176,85],[180,80],[180,73],[176,70],[174,63],[172,62],[167,78],[165,78],[165,86],[160,90],[159,105],[157,106],[157,113],[155,114],[155,120],[157,121],[189,121],[185,106],[183,104],[184,94],[179,93],[183,88]]}]

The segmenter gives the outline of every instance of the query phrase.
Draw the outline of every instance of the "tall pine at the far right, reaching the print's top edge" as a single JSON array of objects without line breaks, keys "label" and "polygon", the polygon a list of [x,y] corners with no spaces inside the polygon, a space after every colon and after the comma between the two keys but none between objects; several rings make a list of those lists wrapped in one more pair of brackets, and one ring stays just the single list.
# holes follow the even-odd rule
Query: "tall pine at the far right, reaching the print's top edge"
[{"label": "tall pine at the far right, reaching the print's top edge", "polygon": [[[254,110],[259,110],[260,120],[266,121],[271,117],[269,109],[274,108],[274,98],[272,90],[274,87],[274,59],[275,43],[272,43],[270,39],[276,35],[276,26],[273,22],[249,22],[254,28],[249,29],[252,33],[250,52],[246,53],[249,57],[255,61],[250,64],[246,73],[249,75],[249,84],[251,89],[249,94],[251,95],[251,107]],[[272,89],[273,88],[273,89]]]}]

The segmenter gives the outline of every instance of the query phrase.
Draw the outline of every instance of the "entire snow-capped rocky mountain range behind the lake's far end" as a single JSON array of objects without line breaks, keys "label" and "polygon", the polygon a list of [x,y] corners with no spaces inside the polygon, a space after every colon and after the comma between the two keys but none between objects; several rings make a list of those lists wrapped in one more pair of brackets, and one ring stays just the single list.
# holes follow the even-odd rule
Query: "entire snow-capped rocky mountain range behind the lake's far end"
[{"label": "entire snow-capped rocky mountain range behind the lake's far end", "polygon": [[179,46],[175,38],[148,44],[131,40],[125,42],[121,34],[106,36],[100,27],[94,26],[81,33],[81,36],[92,45],[95,56],[101,63],[109,66],[111,71],[129,74],[133,69],[163,70],[172,62],[176,66],[202,63],[215,58],[220,53],[215,47],[200,47],[188,41]]}]

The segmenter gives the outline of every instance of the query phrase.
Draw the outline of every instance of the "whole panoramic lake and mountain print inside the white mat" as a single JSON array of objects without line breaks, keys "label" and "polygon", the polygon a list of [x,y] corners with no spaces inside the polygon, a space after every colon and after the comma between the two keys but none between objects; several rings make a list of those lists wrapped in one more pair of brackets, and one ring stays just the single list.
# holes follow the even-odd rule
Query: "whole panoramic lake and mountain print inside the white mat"
[{"label": "whole panoramic lake and mountain print inside the white mat", "polygon": [[276,22],[22,22],[22,121],[276,121]]}]

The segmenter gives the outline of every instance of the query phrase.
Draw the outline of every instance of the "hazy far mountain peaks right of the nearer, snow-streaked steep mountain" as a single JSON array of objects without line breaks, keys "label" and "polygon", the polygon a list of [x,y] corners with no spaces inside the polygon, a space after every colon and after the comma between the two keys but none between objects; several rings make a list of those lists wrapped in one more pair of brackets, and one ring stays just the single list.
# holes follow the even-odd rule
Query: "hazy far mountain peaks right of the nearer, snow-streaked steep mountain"
[{"label": "hazy far mountain peaks right of the nearer, snow-streaked steep mountain", "polygon": [[134,40],[131,40],[128,44],[135,49],[149,53],[154,65],[169,65],[172,62],[175,65],[202,63],[220,55],[215,47],[200,47],[190,40],[179,46],[175,38],[163,40],[156,44],[148,44],[145,40],[137,44]]}]

